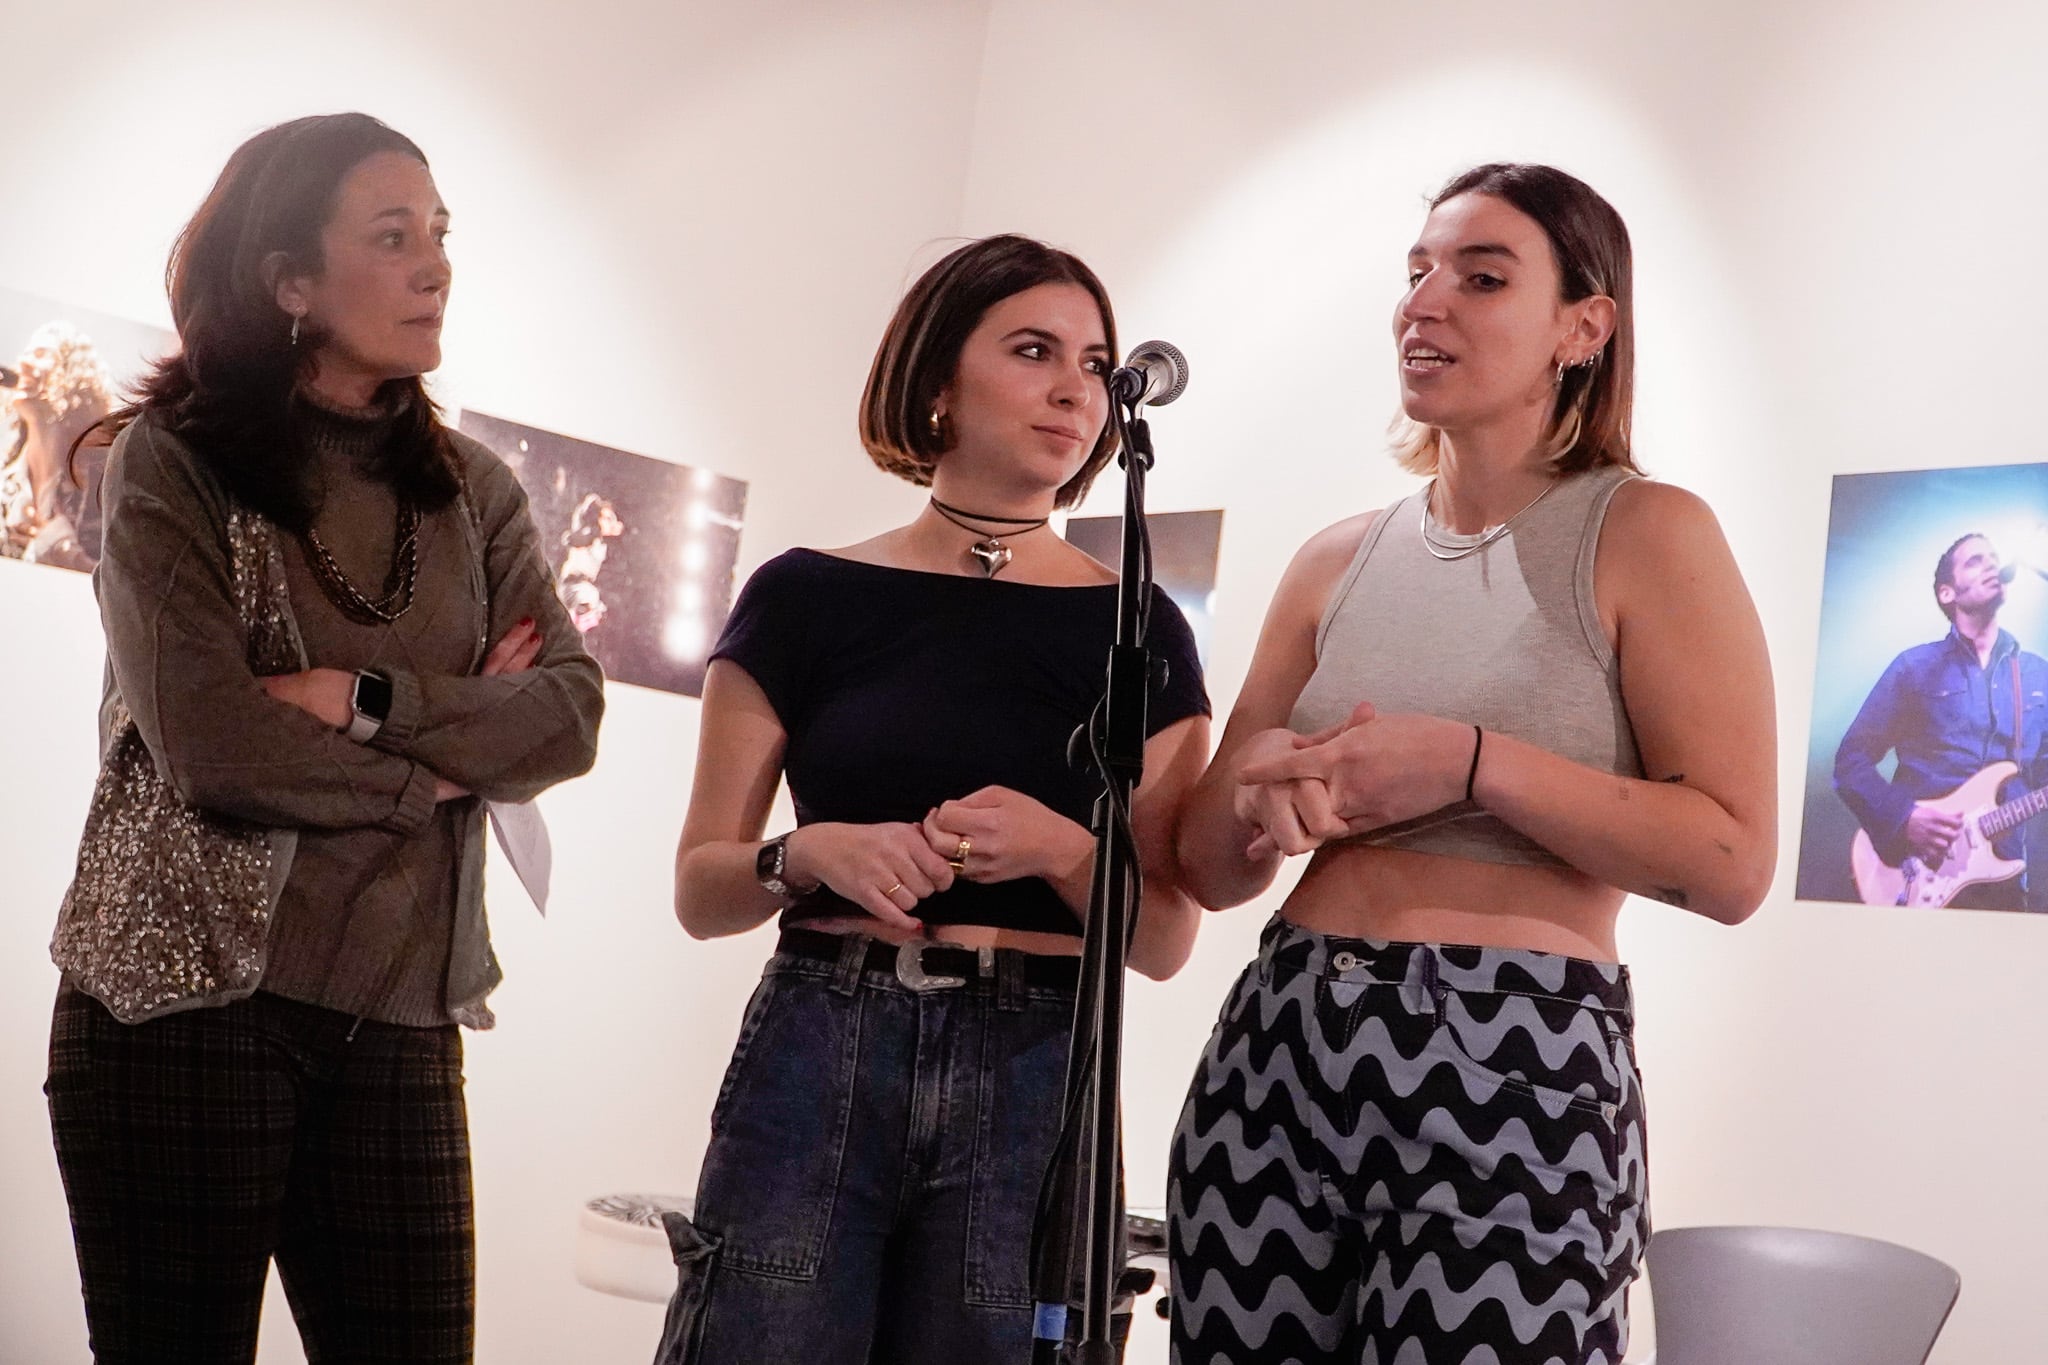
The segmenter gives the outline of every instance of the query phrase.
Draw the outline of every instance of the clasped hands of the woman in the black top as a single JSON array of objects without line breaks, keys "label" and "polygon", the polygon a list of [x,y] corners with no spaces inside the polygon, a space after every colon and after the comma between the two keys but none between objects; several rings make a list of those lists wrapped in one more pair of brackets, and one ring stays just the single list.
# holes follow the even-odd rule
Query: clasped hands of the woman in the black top
[{"label": "clasped hands of the woman in the black top", "polygon": [[829,886],[885,925],[924,933],[920,900],[954,880],[1059,878],[1094,855],[1094,837],[1047,804],[1006,786],[948,800],[924,821],[803,825],[786,845],[797,882]]}]

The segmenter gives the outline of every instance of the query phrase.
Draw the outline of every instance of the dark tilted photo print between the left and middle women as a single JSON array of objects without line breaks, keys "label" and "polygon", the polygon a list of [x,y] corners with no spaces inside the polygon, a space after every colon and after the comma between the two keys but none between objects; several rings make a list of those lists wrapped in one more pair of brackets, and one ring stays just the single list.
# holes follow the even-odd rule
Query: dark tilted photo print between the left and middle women
[{"label": "dark tilted photo print between the left and middle women", "polygon": [[518,475],[555,591],[604,677],[702,696],[748,485],[479,411],[457,426]]}]

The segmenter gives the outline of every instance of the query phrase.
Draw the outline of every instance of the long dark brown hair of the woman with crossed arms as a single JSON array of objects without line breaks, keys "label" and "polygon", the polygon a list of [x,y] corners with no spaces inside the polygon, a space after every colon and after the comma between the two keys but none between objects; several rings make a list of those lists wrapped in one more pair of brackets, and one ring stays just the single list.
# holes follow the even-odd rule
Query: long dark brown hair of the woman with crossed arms
[{"label": "long dark brown hair of the woman with crossed arms", "polygon": [[[289,530],[313,522],[317,489],[307,481],[301,405],[293,401],[326,340],[276,305],[283,274],[317,276],[319,235],[334,217],[348,172],[379,151],[426,166],[406,135],[369,115],[313,115],[264,129],[236,147],[205,203],[170,248],[164,284],[178,352],[137,385],[113,413],[113,438],[150,413],[205,460],[227,489]],[[440,409],[420,377],[391,379],[377,401],[397,411],[385,477],[422,510],[449,505],[461,489]]]}]

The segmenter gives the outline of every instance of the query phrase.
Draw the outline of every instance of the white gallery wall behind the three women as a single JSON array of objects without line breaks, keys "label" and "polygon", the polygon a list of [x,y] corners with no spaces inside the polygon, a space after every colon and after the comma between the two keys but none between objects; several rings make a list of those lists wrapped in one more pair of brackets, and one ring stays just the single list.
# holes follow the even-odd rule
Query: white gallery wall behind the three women
[{"label": "white gallery wall behind the three women", "polygon": [[[10,14],[10,49],[78,53],[59,8]],[[1194,362],[1155,420],[1151,487],[1159,510],[1227,508],[1219,708],[1292,546],[1407,487],[1380,454],[1384,327],[1423,196],[1477,160],[1587,176],[1636,239],[1642,458],[1720,512],[1780,686],[1778,894],[1735,931],[1624,917],[1657,1218],[1921,1246],[1964,1275],[1935,1361],[2048,1359],[2028,1312],[2048,1261],[2028,1240],[2048,1224],[2044,927],[1790,900],[1829,477],[2042,458],[2021,405],[2048,313],[2034,6],[102,8],[88,59],[10,63],[10,104],[37,117],[10,139],[0,284],[164,321],[164,248],[233,143],[369,108],[428,149],[455,207],[440,391],[752,479],[741,569],[913,505],[864,469],[852,409],[934,237],[1079,250],[1126,340],[1165,336]],[[0,565],[0,639],[12,1365],[84,1359],[35,1089],[49,921],[90,786],[86,583]],[[764,935],[692,943],[668,915],[694,720],[614,688],[598,769],[547,798],[551,921],[496,878],[510,978],[500,1029],[469,1048],[494,1365],[639,1361],[657,1330],[655,1308],[580,1289],[569,1252],[582,1197],[694,1183],[766,952]],[[1135,986],[1137,1201],[1260,919],[1210,919],[1180,978]],[[281,1312],[270,1328],[264,1359],[299,1359]]]}]

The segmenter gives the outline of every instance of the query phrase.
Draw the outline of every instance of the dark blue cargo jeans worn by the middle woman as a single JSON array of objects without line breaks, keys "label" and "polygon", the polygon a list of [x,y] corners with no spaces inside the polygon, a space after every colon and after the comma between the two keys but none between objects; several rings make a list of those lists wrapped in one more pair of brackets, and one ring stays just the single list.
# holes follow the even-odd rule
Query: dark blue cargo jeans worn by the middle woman
[{"label": "dark blue cargo jeans worn by the middle woman", "polygon": [[1030,1359],[1071,966],[999,952],[918,988],[842,943],[778,950],[748,1003],[657,1365]]}]

